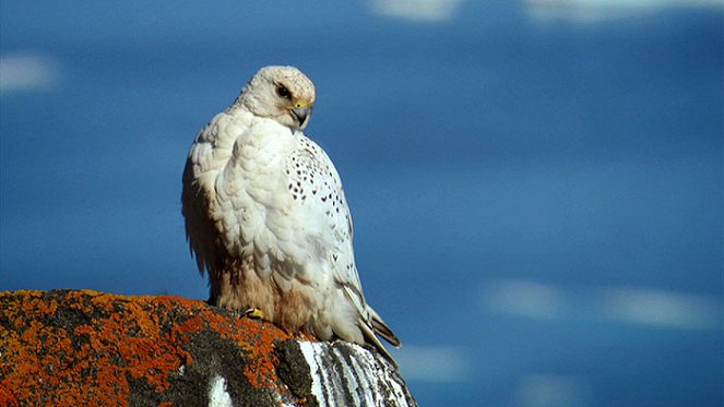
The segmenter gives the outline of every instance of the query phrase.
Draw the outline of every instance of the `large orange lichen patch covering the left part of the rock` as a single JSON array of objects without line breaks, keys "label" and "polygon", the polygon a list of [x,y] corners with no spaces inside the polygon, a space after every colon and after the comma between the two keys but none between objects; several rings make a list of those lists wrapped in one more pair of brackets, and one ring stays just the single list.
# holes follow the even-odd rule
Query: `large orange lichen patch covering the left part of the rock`
[{"label": "large orange lichen patch covering the left part of the rock", "polygon": [[185,346],[202,331],[242,349],[239,369],[254,388],[288,393],[278,385],[274,342],[289,335],[202,301],[91,290],[0,292],[0,323],[2,405],[128,405],[130,380],[170,405],[164,396],[170,375],[193,363]]}]

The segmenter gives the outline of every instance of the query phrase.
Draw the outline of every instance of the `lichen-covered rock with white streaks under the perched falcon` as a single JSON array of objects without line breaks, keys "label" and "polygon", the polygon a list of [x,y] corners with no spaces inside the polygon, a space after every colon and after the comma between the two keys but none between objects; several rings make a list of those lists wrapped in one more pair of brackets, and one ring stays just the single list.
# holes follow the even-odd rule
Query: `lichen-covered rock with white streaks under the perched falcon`
[{"label": "lichen-covered rock with white streaks under the perched falcon", "polygon": [[416,406],[354,344],[295,338],[203,301],[0,292],[0,406]]}]

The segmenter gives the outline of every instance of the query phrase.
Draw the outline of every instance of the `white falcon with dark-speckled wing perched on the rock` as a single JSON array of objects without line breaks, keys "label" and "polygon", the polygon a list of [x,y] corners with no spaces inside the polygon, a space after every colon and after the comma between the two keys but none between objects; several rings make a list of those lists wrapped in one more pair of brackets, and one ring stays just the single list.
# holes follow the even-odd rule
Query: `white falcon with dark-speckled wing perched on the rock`
[{"label": "white falcon with dark-speckled wing perched on the rock", "polygon": [[299,69],[260,69],[198,133],[182,177],[189,247],[213,306],[289,333],[371,345],[401,340],[367,303],[342,181],[304,130],[317,89]]}]

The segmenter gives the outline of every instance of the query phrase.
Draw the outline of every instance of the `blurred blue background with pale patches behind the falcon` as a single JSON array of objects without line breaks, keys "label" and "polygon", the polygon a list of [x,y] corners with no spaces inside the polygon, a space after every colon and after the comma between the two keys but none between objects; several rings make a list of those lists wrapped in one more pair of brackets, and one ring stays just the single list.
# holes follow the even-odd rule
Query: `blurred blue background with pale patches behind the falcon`
[{"label": "blurred blue background with pale patches behind the falcon", "polygon": [[724,404],[724,1],[1,3],[0,289],[205,299],[195,133],[318,88],[423,406]]}]

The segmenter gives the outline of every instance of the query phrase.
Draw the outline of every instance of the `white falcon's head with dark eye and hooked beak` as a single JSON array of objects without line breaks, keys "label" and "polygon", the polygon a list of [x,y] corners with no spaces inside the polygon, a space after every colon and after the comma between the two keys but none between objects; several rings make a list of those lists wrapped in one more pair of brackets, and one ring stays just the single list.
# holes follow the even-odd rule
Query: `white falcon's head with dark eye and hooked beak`
[{"label": "white falcon's head with dark eye and hooked beak", "polygon": [[296,131],[309,123],[316,96],[314,84],[298,69],[264,67],[244,87],[237,103]]}]

